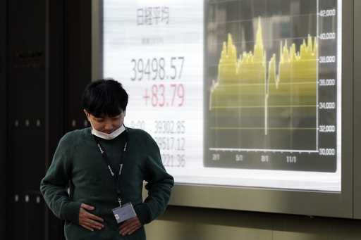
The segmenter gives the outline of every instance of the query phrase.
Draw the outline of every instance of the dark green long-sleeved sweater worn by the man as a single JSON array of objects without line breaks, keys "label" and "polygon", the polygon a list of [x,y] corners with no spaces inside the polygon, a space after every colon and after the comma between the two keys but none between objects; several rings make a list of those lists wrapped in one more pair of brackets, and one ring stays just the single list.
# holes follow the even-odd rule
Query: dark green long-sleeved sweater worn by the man
[{"label": "dark green long-sleeved sweater worn by the man", "polygon": [[[125,132],[113,140],[100,140],[109,160],[119,164],[125,144]],[[147,132],[128,128],[128,146],[118,181],[123,203],[133,203],[142,224],[164,212],[169,201],[173,177],[161,163],[156,142]],[[142,201],[143,181],[148,196]],[[68,191],[69,188],[69,191]],[[129,236],[121,236],[111,209],[118,207],[116,184],[91,134],[91,129],[75,130],[60,141],[40,190],[52,212],[65,220],[68,240],[145,239],[142,227]],[[104,219],[104,228],[91,232],[80,225],[80,204],[94,206],[90,211]]]}]

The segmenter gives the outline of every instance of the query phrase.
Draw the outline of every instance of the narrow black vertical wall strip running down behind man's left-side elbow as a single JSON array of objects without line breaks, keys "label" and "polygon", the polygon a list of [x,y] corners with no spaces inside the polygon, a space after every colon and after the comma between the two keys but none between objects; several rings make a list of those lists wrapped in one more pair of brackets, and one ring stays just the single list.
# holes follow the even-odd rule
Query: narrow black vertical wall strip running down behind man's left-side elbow
[{"label": "narrow black vertical wall strip running down behind man's left-side elbow", "polygon": [[[64,53],[65,53],[65,5],[63,0],[47,0],[46,15],[46,63],[47,72],[45,88],[45,161],[42,163],[42,177],[51,163],[52,156],[56,150],[59,139],[64,132]],[[61,220],[54,217],[54,214],[42,202],[44,213],[45,239],[63,239],[63,225]]]}]

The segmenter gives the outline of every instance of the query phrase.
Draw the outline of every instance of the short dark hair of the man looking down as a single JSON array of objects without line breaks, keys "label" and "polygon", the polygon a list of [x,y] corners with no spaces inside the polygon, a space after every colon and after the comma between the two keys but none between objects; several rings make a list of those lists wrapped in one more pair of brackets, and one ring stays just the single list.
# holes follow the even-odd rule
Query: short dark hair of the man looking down
[{"label": "short dark hair of the man looking down", "polygon": [[97,118],[114,117],[126,111],[128,94],[113,79],[91,82],[82,94],[82,108]]}]

